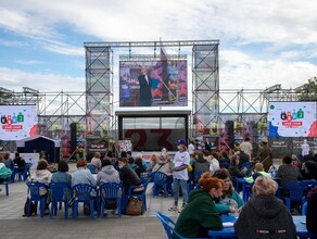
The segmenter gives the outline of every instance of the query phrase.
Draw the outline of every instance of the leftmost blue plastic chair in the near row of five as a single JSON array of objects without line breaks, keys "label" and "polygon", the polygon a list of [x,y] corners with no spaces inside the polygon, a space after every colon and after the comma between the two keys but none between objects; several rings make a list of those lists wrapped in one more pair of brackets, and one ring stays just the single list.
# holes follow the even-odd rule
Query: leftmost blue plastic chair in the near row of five
[{"label": "leftmost blue plastic chair in the near row of five", "polygon": [[30,210],[30,203],[34,202],[36,205],[35,214],[37,214],[37,206],[38,202],[39,209],[40,209],[40,216],[43,218],[45,211],[46,211],[46,203],[48,199],[48,193],[46,196],[40,196],[40,188],[49,189],[49,186],[47,184],[38,183],[38,181],[27,181],[26,186],[29,190],[29,203],[28,203],[28,212]]}]

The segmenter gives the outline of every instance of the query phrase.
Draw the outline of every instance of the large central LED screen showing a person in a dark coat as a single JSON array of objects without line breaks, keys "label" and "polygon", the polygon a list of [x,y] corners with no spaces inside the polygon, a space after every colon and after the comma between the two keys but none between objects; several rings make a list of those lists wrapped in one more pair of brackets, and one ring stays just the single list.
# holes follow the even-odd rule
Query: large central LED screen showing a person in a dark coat
[{"label": "large central LED screen showing a person in a dark coat", "polygon": [[187,60],[119,62],[119,106],[187,106]]}]

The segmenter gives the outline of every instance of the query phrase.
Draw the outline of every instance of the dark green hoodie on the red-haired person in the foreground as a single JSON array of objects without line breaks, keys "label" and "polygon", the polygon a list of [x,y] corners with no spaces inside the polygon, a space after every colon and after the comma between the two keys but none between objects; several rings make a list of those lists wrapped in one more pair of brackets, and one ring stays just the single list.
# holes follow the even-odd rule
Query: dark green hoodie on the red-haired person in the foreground
[{"label": "dark green hoodie on the red-haired person in the foreground", "polygon": [[186,238],[206,238],[208,230],[220,229],[223,222],[215,209],[213,198],[202,189],[192,191],[177,219],[175,230]]}]

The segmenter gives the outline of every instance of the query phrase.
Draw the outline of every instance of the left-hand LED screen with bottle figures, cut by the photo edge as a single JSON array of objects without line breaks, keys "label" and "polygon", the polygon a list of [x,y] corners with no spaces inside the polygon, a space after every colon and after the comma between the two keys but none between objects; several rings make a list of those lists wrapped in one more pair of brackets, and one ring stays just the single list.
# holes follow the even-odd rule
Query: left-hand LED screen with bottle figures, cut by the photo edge
[{"label": "left-hand LED screen with bottle figures, cut by the photo edge", "polygon": [[37,135],[36,105],[0,105],[1,140],[20,140]]}]

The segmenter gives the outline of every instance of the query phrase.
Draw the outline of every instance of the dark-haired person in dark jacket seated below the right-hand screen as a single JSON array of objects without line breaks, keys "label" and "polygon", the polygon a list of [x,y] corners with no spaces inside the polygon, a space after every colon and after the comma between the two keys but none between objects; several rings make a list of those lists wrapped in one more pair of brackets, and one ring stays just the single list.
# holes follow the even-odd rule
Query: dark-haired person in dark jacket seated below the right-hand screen
[{"label": "dark-haired person in dark jacket seated below the right-hand screen", "polygon": [[292,158],[289,155],[283,156],[282,165],[279,166],[275,177],[279,179],[282,187],[291,181],[299,181],[303,179],[299,168],[292,165]]}]

